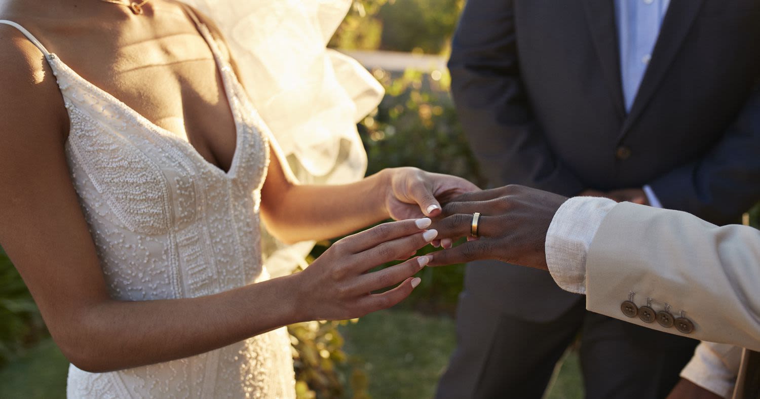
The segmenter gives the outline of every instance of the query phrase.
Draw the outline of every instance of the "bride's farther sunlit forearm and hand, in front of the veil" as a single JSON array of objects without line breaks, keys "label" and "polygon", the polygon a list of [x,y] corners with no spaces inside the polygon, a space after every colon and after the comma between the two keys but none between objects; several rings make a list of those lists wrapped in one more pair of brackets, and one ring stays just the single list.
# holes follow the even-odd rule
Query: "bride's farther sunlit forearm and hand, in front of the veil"
[{"label": "bride's farther sunlit forearm and hand, in front of the veil", "polygon": [[271,148],[261,217],[283,242],[342,236],[389,217],[435,217],[439,200],[479,190],[465,179],[412,167],[383,169],[344,185],[298,185],[276,145]]}]

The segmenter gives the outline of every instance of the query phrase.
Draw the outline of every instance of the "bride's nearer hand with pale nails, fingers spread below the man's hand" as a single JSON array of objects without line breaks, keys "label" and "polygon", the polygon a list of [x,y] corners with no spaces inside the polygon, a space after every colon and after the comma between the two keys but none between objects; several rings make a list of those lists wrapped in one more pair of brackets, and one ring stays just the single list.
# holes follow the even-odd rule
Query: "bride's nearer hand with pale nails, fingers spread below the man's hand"
[{"label": "bride's nearer hand with pale nails, fingers spread below the man's hand", "polygon": [[[379,264],[407,258],[438,234],[426,230],[430,219],[401,220],[347,236],[299,274],[298,301],[303,320],[344,320],[386,309],[409,296],[420,278],[412,278],[429,261],[428,256],[368,273]],[[385,293],[372,294],[401,282]]]}]

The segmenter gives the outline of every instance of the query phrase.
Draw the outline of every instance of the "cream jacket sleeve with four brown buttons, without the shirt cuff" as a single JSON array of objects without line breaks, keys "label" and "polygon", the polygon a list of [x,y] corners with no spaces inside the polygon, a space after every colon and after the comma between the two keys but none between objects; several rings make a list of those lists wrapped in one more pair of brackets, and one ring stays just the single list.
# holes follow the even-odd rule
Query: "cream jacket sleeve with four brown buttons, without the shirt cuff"
[{"label": "cream jacket sleeve with four brown buttons, without the shirt cuff", "polygon": [[648,328],[681,334],[657,321],[629,318],[622,302],[670,309],[689,318],[698,340],[760,350],[760,231],[715,226],[679,211],[616,204],[586,258],[586,307]]}]

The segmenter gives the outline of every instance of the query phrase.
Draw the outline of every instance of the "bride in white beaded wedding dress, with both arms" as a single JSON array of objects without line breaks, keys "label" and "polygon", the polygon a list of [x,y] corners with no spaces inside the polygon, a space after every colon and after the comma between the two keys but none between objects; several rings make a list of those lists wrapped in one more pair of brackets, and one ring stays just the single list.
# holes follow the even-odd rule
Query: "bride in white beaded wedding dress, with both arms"
[{"label": "bride in white beaded wedding dress, with both arms", "polygon": [[[0,245],[69,397],[294,397],[282,327],[400,302],[429,258],[369,270],[476,189],[413,168],[296,184],[222,35],[180,2],[2,0],[0,20]],[[388,217],[300,273],[262,265],[260,220],[299,242]]]}]

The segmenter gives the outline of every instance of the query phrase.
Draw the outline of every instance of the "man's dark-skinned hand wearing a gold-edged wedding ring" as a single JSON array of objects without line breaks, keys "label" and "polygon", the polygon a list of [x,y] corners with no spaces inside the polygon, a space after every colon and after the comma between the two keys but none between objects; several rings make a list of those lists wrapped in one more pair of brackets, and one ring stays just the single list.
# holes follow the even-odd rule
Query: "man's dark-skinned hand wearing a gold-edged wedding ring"
[{"label": "man's dark-skinned hand wearing a gold-edged wedding ring", "polygon": [[548,270],[546,231],[559,207],[562,195],[521,185],[507,185],[454,198],[443,207],[442,218],[431,229],[439,239],[470,236],[473,213],[480,212],[479,239],[432,254],[429,265],[497,259],[511,264]]}]

